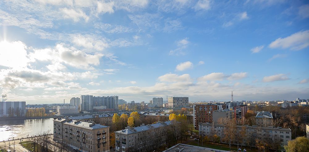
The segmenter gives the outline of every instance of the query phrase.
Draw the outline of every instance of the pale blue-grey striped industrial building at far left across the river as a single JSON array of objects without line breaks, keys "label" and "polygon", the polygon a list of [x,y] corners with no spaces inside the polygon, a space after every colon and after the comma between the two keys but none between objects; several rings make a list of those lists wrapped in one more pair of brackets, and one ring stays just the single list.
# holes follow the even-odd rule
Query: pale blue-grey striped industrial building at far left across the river
[{"label": "pale blue-grey striped industrial building at far left across the river", "polygon": [[25,116],[25,107],[24,101],[1,101],[0,117]]}]

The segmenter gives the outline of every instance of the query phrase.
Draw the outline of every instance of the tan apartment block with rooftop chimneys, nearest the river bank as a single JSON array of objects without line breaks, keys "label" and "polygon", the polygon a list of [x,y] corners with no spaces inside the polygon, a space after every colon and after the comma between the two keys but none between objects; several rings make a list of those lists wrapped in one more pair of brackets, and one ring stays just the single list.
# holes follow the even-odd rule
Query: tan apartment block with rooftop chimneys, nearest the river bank
[{"label": "tan apartment block with rooftop chimneys, nearest the river bank", "polygon": [[69,118],[54,118],[53,139],[82,152],[109,151],[109,126]]}]

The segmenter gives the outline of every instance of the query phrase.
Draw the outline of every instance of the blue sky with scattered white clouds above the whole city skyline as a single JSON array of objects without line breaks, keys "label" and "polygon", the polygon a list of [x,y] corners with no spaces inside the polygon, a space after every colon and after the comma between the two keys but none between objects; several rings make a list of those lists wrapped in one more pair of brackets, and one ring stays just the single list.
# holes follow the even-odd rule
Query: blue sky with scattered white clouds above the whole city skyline
[{"label": "blue sky with scattered white clouds above the whole city skyline", "polygon": [[0,93],[309,98],[309,2],[0,0]]}]

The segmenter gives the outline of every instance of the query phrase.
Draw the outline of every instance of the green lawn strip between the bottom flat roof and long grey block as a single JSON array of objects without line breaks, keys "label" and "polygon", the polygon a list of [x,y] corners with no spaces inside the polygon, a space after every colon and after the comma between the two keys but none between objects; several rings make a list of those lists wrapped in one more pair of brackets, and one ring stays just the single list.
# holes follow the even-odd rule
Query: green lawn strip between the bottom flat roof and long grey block
[{"label": "green lawn strip between the bottom flat roof and long grey block", "polygon": [[[193,146],[197,146],[197,141],[192,141],[192,142],[189,142],[187,143],[188,145],[193,145]],[[218,149],[218,150],[227,150],[229,151],[230,150],[230,147],[226,144],[221,144],[221,143],[212,143],[212,142],[204,142],[203,143],[203,146],[202,146],[202,143],[198,143],[198,146],[201,146],[201,147],[207,147],[207,148],[213,148],[213,149]],[[244,148],[244,146],[242,147],[242,149]],[[248,152],[257,152],[256,149],[252,148],[252,150],[250,150],[249,148],[247,148],[247,151]],[[231,150],[235,150],[237,151],[237,146],[235,145],[231,145]]]}]

